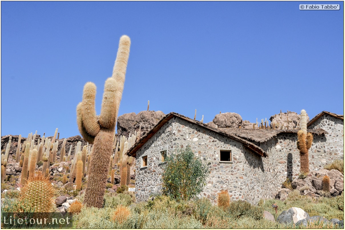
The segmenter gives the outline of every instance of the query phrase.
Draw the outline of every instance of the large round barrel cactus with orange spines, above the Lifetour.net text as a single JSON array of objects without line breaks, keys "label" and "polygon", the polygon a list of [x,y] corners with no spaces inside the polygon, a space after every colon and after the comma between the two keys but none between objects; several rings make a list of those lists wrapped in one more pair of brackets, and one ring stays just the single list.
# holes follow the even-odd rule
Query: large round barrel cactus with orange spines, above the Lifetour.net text
[{"label": "large round barrel cactus with orange spines, above the Lifetour.net text", "polygon": [[[25,207],[24,212],[52,212],[55,211],[55,189],[48,177],[41,172],[31,173],[25,185],[20,190],[20,204]],[[20,208],[20,207],[19,207]]]}]

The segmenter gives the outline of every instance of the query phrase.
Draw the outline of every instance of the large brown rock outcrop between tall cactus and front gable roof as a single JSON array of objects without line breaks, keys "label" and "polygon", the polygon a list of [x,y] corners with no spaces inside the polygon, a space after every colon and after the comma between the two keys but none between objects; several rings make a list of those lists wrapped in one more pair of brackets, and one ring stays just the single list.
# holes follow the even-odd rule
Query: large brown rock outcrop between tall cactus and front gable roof
[{"label": "large brown rock outcrop between tall cactus and front gable roof", "polygon": [[141,111],[136,113],[125,113],[117,119],[117,135],[128,137],[129,133],[139,131],[141,126],[140,137],[144,136],[152,127],[154,127],[165,114],[162,111]]}]

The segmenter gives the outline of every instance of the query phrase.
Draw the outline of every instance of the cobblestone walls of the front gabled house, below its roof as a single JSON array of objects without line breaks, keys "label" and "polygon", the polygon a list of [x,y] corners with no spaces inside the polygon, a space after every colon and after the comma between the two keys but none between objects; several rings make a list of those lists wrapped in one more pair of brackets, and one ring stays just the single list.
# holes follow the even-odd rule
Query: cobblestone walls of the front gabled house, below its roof
[{"label": "cobblestone walls of the front gabled house, below its roof", "polygon": [[[246,149],[241,142],[173,118],[136,153],[137,201],[145,201],[150,194],[161,189],[160,151],[166,150],[169,154],[187,144],[210,169],[206,186],[199,197],[207,197],[216,203],[217,193],[227,189],[231,200],[257,203],[261,198],[273,197],[280,188],[275,176],[277,163],[272,157],[263,158]],[[232,163],[219,162],[220,149],[231,150]],[[143,156],[147,156],[148,166],[141,168]]]}]

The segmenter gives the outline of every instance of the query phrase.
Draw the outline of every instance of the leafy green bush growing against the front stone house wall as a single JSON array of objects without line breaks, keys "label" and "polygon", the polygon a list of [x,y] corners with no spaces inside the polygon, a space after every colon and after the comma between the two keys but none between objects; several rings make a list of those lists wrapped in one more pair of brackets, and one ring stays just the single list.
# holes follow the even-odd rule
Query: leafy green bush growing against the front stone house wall
[{"label": "leafy green bush growing against the front stone house wall", "polygon": [[162,173],[164,194],[175,200],[190,200],[203,191],[209,169],[194,156],[190,146],[166,156],[165,162]]}]

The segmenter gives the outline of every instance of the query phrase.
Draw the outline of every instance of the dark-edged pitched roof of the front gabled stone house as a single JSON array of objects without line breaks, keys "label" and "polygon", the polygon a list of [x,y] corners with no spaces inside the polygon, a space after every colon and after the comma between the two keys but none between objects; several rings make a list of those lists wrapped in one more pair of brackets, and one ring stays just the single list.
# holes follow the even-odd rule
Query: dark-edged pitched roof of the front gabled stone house
[{"label": "dark-edged pitched roof of the front gabled stone house", "polygon": [[266,157],[267,156],[267,152],[264,151],[262,148],[258,147],[257,145],[253,144],[252,142],[249,142],[247,140],[244,140],[240,137],[237,137],[235,136],[234,134],[231,134],[231,133],[225,133],[225,132],[222,132],[220,130],[217,130],[215,128],[211,128],[210,126],[206,125],[205,123],[202,123],[200,121],[194,121],[188,117],[185,117],[181,114],[178,114],[178,113],[174,113],[174,112],[171,112],[169,114],[167,114],[164,118],[162,118],[158,124],[153,127],[148,133],[146,133],[146,135],[142,136],[135,144],[134,146],[132,146],[127,154],[130,155],[130,156],[133,156],[135,157],[136,156],[136,152],[152,137],[154,136],[154,134],[156,132],[158,132],[158,130],[164,126],[164,124],[166,124],[170,119],[174,118],[174,117],[178,117],[180,119],[183,119],[185,121],[188,121],[190,123],[194,123],[194,124],[197,124],[198,126],[201,126],[201,127],[204,127],[208,130],[211,130],[211,131],[214,131],[216,133],[220,133],[224,136],[227,136],[231,139],[234,139],[234,140],[237,140],[241,143],[243,143],[243,145],[251,150],[253,150],[255,153],[257,153],[259,156],[262,156],[262,157]]}]

